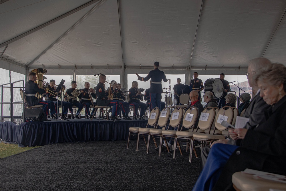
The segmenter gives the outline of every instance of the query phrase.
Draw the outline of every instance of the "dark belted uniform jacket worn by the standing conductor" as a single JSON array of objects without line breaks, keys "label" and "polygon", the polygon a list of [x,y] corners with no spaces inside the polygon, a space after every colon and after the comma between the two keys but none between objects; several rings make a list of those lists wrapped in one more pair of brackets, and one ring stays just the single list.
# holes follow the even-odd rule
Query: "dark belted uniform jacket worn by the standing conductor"
[{"label": "dark belted uniform jacket worn by the standing conductor", "polygon": [[[159,70],[158,68],[155,68],[154,70],[151,70],[149,72],[149,74],[145,78],[138,77],[138,80],[146,82],[150,78],[151,78],[152,82],[162,82],[162,80],[164,82],[168,81],[166,76],[165,76],[165,74],[164,74],[164,72]],[[152,82],[151,82],[151,85],[150,85],[150,93],[163,93],[162,84],[155,84],[155,83],[152,83]]]}]

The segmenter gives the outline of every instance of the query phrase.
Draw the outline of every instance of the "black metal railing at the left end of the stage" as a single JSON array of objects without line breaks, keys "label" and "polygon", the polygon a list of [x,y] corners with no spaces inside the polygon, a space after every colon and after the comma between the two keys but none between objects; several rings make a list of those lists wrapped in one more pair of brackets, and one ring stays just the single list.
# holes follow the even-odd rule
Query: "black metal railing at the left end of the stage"
[{"label": "black metal railing at the left end of the stage", "polygon": [[[19,82],[22,82],[23,86],[15,86],[14,87],[14,84],[19,83]],[[7,85],[9,85],[9,86],[7,86]],[[10,89],[10,94],[11,94],[10,102],[3,102],[4,88]],[[24,113],[25,104],[23,101],[14,101],[14,88],[23,88],[23,90],[24,90],[24,88],[25,88],[24,80],[18,80],[18,81],[12,82],[12,83],[10,82],[10,83],[1,85],[1,102],[0,102],[0,104],[1,104],[1,114],[0,114],[1,115],[1,118],[0,118],[1,122],[3,122],[4,117],[10,118],[10,120],[13,122],[14,104],[23,104],[23,119],[25,119],[25,113]],[[24,96],[25,96],[25,94],[24,94]],[[3,116],[3,104],[10,104],[10,108],[9,108],[10,116]]]}]

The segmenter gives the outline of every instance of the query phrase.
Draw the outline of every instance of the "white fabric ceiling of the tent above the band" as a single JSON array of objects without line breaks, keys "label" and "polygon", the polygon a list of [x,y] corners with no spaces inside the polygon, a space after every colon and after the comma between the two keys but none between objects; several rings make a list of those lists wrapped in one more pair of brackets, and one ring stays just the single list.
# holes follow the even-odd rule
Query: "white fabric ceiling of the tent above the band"
[{"label": "white fabric ceiling of the tent above the band", "polygon": [[[90,1],[1,3],[0,44]],[[8,44],[3,58],[28,65],[99,3]],[[285,9],[285,0],[105,0],[31,66],[117,67],[123,54],[126,66],[188,67],[192,49],[192,67],[243,67],[265,49],[266,58],[285,64]]]}]

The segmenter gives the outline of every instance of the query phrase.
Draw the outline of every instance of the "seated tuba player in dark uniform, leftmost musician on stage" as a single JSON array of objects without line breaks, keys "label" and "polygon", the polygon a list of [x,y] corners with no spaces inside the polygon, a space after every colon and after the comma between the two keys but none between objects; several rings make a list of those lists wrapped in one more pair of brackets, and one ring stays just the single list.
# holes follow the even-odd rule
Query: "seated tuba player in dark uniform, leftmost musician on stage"
[{"label": "seated tuba player in dark uniform, leftmost musician on stage", "polygon": [[[49,110],[51,111],[51,118],[54,117],[55,111],[55,104],[52,101],[44,101],[39,100],[36,97],[36,93],[39,92],[39,94],[45,94],[45,90],[40,88],[35,81],[37,80],[37,75],[35,72],[29,72],[29,81],[25,84],[25,97],[27,100],[27,105],[29,107],[34,105],[43,105],[43,110],[46,115],[49,115]],[[51,121],[51,120],[45,120],[45,121]]]}]

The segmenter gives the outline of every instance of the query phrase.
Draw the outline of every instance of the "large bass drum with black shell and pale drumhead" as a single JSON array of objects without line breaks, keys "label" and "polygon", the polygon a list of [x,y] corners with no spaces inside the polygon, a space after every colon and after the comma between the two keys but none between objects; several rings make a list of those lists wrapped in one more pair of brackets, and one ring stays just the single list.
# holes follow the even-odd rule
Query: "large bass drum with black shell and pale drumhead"
[{"label": "large bass drum with black shell and pale drumhead", "polygon": [[204,82],[204,92],[212,92],[214,97],[221,98],[224,93],[223,80],[219,78],[210,78]]}]

